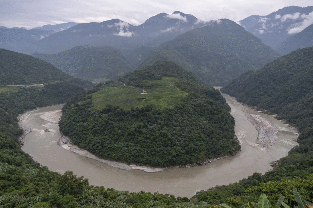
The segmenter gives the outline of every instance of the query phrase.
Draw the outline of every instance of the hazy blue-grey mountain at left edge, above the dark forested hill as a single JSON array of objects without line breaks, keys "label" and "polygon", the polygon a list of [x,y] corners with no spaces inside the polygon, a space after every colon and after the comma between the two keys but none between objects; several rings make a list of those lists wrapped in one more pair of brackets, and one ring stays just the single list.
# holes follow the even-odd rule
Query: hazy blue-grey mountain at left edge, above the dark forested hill
[{"label": "hazy blue-grey mountain at left edge, above the dark forested hill", "polygon": [[54,31],[26,30],[22,28],[0,28],[0,48],[16,52],[32,46],[38,40],[47,37]]}]

